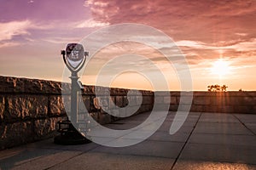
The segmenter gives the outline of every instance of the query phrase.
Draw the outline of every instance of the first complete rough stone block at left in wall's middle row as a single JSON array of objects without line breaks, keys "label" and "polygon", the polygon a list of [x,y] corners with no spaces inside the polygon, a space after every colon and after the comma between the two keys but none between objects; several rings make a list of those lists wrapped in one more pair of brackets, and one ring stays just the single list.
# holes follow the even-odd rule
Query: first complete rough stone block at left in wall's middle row
[{"label": "first complete rough stone block at left in wall's middle row", "polygon": [[10,95],[6,99],[4,119],[45,117],[48,113],[48,98],[39,95]]}]

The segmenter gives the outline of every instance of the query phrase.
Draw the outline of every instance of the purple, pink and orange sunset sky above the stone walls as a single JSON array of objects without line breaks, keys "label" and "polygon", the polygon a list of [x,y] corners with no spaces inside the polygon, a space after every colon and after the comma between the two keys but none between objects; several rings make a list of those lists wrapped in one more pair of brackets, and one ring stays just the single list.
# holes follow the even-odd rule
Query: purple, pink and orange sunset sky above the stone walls
[{"label": "purple, pink and orange sunset sky above the stone walls", "polygon": [[[85,39],[83,45],[90,56],[80,74],[84,84],[155,89],[154,82],[163,81],[157,79],[161,72],[167,88],[156,90],[183,90],[189,76],[195,91],[206,91],[212,84],[225,84],[228,91],[256,90],[254,0],[0,0],[0,3],[2,76],[64,81],[65,65],[60,51],[68,42]],[[162,32],[172,38],[180,50],[178,54],[183,56],[170,43],[158,42],[160,37],[150,31],[137,29],[128,34],[129,28],[104,30],[124,23]],[[102,32],[100,36],[91,36],[95,31]],[[154,48],[142,42],[113,42],[91,53],[91,44],[122,37],[121,34],[148,38],[148,43],[155,39],[159,44]],[[167,48],[168,56],[161,54],[160,48]],[[179,68],[186,65],[189,75],[177,71],[176,65]],[[99,76],[102,70],[103,77]]]}]

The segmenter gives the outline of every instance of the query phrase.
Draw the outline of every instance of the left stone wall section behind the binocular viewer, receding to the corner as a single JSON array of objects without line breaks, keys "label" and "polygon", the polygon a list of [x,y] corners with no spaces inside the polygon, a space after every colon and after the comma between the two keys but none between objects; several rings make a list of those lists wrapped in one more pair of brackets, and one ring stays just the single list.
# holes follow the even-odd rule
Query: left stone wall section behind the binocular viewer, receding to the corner
[{"label": "left stone wall section behind the binocular viewer, receding to the corner", "polygon": [[[67,118],[61,88],[69,89],[70,84],[65,83],[61,87],[61,82],[0,77],[0,150],[47,139],[56,134],[56,123]],[[115,121],[118,117],[110,116],[95,106],[96,89],[100,90],[98,95],[103,105],[109,105],[111,100],[121,108],[127,105],[128,90],[86,86],[82,91],[83,99],[80,102],[84,102],[97,122],[104,124]],[[111,96],[106,98],[105,92],[109,90]],[[153,93],[142,91],[142,94],[143,105],[139,106],[137,113],[152,109]],[[137,93],[130,98],[136,99]],[[133,105],[137,106],[137,103]]]}]

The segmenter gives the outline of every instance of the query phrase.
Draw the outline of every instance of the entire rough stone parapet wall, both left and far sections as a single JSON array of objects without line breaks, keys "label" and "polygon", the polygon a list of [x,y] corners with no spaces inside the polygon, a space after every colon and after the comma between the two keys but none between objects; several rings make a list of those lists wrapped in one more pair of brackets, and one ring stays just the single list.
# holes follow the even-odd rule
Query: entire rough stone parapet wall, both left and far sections
[{"label": "entire rough stone parapet wall, both left and far sections", "polygon": [[[70,89],[70,84],[65,83],[61,86],[61,82],[0,77],[0,149],[54,136],[56,122],[67,118],[61,89]],[[96,93],[99,100],[95,99]],[[183,105],[189,105],[186,97],[191,93],[183,92],[185,97],[182,104],[180,92],[162,94],[154,98],[154,92],[150,91],[140,90],[140,93],[137,93],[136,90],[122,88],[86,86],[79,102],[83,102],[90,115],[101,124],[119,118],[103,111],[97,103],[101,103],[116,115],[119,114],[119,109],[114,105],[119,108],[127,108],[125,106],[129,105],[127,112],[131,112],[129,109],[135,109],[138,114],[151,111],[154,99],[156,103],[165,104],[166,95],[169,94],[170,111],[177,111],[178,107],[182,111]],[[256,113],[256,92],[194,92],[192,95],[190,111]],[[68,98],[69,94],[66,96]],[[79,112],[81,111],[83,112],[79,109]]]}]

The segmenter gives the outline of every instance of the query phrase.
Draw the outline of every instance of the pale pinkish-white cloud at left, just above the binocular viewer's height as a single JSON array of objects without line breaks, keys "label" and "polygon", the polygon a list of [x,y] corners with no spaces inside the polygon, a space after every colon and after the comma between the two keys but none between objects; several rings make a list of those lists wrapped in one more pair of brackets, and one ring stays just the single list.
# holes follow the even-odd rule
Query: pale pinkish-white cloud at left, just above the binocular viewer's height
[{"label": "pale pinkish-white cloud at left, just above the binocular viewer's height", "polygon": [[[66,23],[57,20],[51,22],[15,20],[0,22],[0,48],[42,41],[51,43],[79,42],[81,39],[79,28],[105,26],[104,24],[106,24],[92,20],[87,21]],[[89,30],[83,30],[82,36],[84,36],[84,32],[89,32]]]}]

